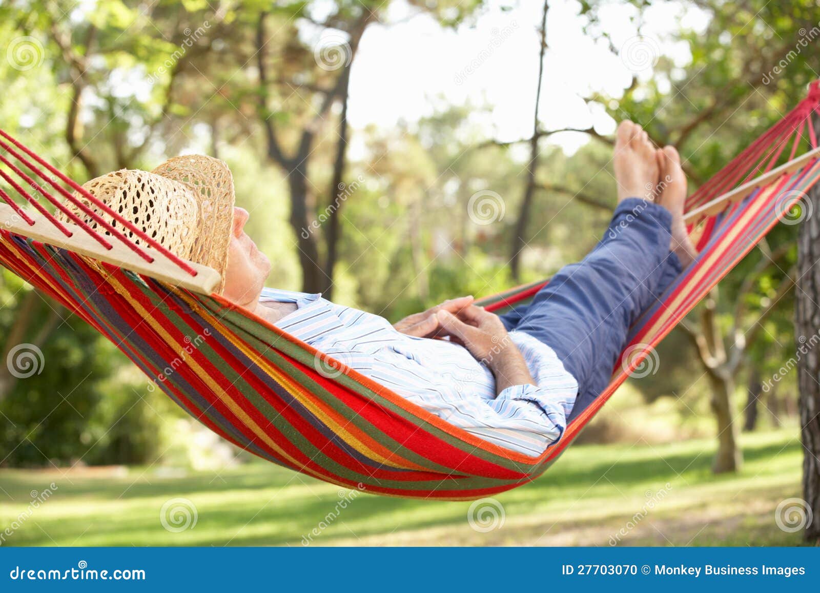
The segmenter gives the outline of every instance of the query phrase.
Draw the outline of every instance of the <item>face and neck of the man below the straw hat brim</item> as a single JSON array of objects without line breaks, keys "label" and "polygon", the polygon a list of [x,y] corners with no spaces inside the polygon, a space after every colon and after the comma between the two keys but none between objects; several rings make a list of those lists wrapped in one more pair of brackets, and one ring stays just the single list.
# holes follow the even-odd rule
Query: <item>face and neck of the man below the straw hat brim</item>
[{"label": "face and neck of the man below the straw hat brim", "polygon": [[249,216],[244,208],[234,208],[222,295],[233,303],[253,310],[265,279],[271,273],[271,262],[244,231]]}]

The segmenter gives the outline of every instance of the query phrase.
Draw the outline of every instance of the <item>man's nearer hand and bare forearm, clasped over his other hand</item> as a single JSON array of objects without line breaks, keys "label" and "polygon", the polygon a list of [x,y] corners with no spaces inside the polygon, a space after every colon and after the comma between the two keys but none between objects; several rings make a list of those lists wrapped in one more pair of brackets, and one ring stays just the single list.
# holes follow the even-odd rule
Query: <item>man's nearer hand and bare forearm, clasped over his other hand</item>
[{"label": "man's nearer hand and bare forearm, clasped over his other hand", "polygon": [[458,316],[439,311],[436,317],[441,325],[440,333],[464,344],[476,360],[490,367],[495,376],[496,395],[513,385],[535,385],[521,351],[510,339],[498,315],[470,305],[462,308]]}]

